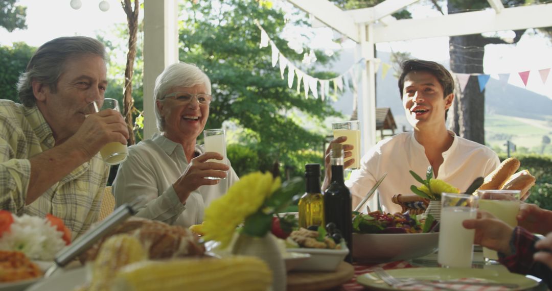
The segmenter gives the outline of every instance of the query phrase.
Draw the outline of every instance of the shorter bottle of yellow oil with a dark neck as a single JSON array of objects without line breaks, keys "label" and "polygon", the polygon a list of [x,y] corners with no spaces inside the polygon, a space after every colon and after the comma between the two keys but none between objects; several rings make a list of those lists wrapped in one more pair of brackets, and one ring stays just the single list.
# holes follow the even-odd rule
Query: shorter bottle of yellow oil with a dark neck
[{"label": "shorter bottle of yellow oil with a dark neck", "polygon": [[299,227],[324,224],[324,198],[320,190],[320,164],[305,165],[306,192],[299,200]]}]

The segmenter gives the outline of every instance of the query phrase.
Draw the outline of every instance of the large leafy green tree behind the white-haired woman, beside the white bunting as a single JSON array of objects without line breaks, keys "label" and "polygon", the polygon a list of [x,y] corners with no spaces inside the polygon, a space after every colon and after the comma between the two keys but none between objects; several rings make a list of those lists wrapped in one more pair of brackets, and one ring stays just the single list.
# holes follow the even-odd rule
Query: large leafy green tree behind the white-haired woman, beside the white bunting
[{"label": "large leafy green tree behind the white-haired woman, beside the white bunting", "polygon": [[[240,143],[257,153],[261,170],[270,169],[278,160],[294,166],[295,175],[302,173],[305,163],[322,163],[325,134],[305,129],[301,121],[320,125],[339,113],[327,101],[297,94],[296,84],[288,89],[278,66],[272,67],[270,48],[259,49],[261,31],[254,24],[256,19],[291,62],[297,66],[302,58],[279,37],[284,13],[269,4],[243,0],[185,3],[182,9],[188,18],[179,31],[179,57],[203,68],[213,83],[206,128],[235,122],[243,128]],[[320,52],[316,57],[319,64],[330,61]],[[318,78],[336,76],[312,68],[303,71]]]}]

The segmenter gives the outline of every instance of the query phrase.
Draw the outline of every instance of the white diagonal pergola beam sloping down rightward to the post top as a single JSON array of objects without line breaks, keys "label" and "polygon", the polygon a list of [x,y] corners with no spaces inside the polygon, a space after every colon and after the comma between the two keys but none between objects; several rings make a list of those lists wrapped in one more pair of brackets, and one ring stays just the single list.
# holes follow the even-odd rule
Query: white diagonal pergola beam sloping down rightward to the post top
[{"label": "white diagonal pergola beam sloping down rightward to the post top", "polygon": [[288,0],[295,7],[311,13],[339,33],[349,37],[349,39],[359,42],[358,27],[351,17],[335,4],[328,0]]}]

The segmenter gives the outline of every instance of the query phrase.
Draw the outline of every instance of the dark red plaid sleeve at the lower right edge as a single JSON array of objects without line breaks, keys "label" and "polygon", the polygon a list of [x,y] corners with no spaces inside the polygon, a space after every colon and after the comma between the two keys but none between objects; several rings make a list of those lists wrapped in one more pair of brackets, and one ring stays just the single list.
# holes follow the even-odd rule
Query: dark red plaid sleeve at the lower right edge
[{"label": "dark red plaid sleeve at the lower right edge", "polygon": [[498,261],[506,266],[510,272],[527,274],[533,266],[533,254],[535,253],[535,243],[539,240],[537,236],[522,227],[514,228],[510,247],[512,255],[505,256],[498,253]]}]

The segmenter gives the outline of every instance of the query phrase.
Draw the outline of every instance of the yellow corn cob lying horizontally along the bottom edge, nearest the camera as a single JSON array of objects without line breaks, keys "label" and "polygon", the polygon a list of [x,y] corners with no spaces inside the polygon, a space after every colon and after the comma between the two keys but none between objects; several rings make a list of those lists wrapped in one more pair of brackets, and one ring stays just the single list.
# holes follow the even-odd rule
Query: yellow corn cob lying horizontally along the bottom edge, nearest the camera
[{"label": "yellow corn cob lying horizontally along the bottom edge, nearest the camera", "polygon": [[256,257],[144,261],[125,266],[113,291],[267,290],[272,272]]}]

